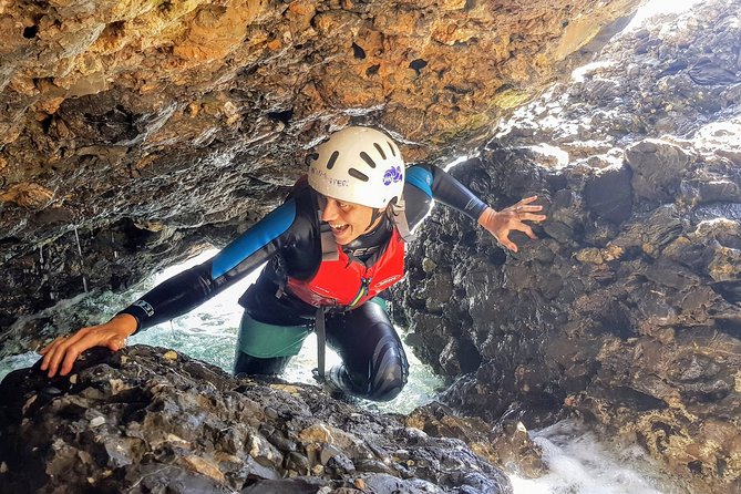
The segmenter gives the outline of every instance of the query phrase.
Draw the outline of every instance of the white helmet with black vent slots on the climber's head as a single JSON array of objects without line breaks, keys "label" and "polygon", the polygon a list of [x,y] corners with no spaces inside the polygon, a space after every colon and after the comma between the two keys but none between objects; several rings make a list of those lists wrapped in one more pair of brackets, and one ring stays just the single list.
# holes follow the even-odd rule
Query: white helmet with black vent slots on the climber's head
[{"label": "white helmet with black vent slots on the climber's head", "polygon": [[348,203],[384,208],[404,189],[404,161],[397,144],[369,127],[347,127],[317,146],[309,185]]}]

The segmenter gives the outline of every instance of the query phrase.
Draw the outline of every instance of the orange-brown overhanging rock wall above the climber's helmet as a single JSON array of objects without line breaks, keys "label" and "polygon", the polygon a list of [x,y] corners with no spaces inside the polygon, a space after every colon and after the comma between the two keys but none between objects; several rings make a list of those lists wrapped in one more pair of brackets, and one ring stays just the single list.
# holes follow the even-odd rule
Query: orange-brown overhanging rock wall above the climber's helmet
[{"label": "orange-brown overhanging rock wall above the climber's helmet", "polygon": [[409,161],[472,150],[639,3],[2,2],[0,341],[223,245],[335,128],[383,127]]}]

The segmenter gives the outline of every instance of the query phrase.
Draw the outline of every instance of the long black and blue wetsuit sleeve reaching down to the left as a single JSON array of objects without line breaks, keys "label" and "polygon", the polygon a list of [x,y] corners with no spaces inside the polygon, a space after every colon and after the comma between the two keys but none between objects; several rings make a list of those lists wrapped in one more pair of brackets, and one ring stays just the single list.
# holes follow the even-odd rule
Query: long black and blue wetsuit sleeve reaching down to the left
[{"label": "long black and blue wetsuit sleeve reaching down to the left", "polygon": [[296,216],[296,202],[287,200],[216,256],[163,281],[119,313],[133,316],[140,331],[193,310],[288,245]]}]

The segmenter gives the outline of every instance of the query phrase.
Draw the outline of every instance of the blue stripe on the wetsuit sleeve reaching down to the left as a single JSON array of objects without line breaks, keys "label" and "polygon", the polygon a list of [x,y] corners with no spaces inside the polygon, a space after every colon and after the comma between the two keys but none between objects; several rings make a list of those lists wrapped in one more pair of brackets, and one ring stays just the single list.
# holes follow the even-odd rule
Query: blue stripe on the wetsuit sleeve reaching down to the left
[{"label": "blue stripe on the wetsuit sleeve reaching down to the left", "polygon": [[260,219],[214,257],[210,269],[212,279],[235,268],[239,263],[286,233],[294,219],[296,219],[296,202],[290,199]]}]

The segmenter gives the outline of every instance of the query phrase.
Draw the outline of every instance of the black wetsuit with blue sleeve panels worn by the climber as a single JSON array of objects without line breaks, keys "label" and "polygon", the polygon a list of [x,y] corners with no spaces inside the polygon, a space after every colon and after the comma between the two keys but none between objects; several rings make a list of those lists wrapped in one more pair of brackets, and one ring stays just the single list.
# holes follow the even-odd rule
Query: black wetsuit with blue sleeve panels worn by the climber
[{"label": "black wetsuit with blue sleeve panels worn by the climber", "polygon": [[[477,219],[486,208],[469,189],[435,166],[409,167],[403,194],[410,228],[426,215],[432,199],[472,219]],[[393,228],[392,222],[384,217],[373,231],[343,249],[353,263],[371,266],[382,254]],[[255,321],[306,328],[312,323],[317,309],[286,292],[285,285],[287,277],[307,280],[317,272],[322,261],[321,230],[316,193],[308,186],[299,187],[281,206],[215,257],[158,285],[122,313],[136,319],[137,331],[150,328],[194,309],[267,261],[239,303]],[[343,367],[336,370],[336,374],[348,392],[372,400],[389,400],[401,391],[408,374],[406,359],[380,306],[363,303],[349,311],[329,313],[327,342],[342,358]],[[235,372],[278,373],[288,359],[258,358],[237,351]]]}]

